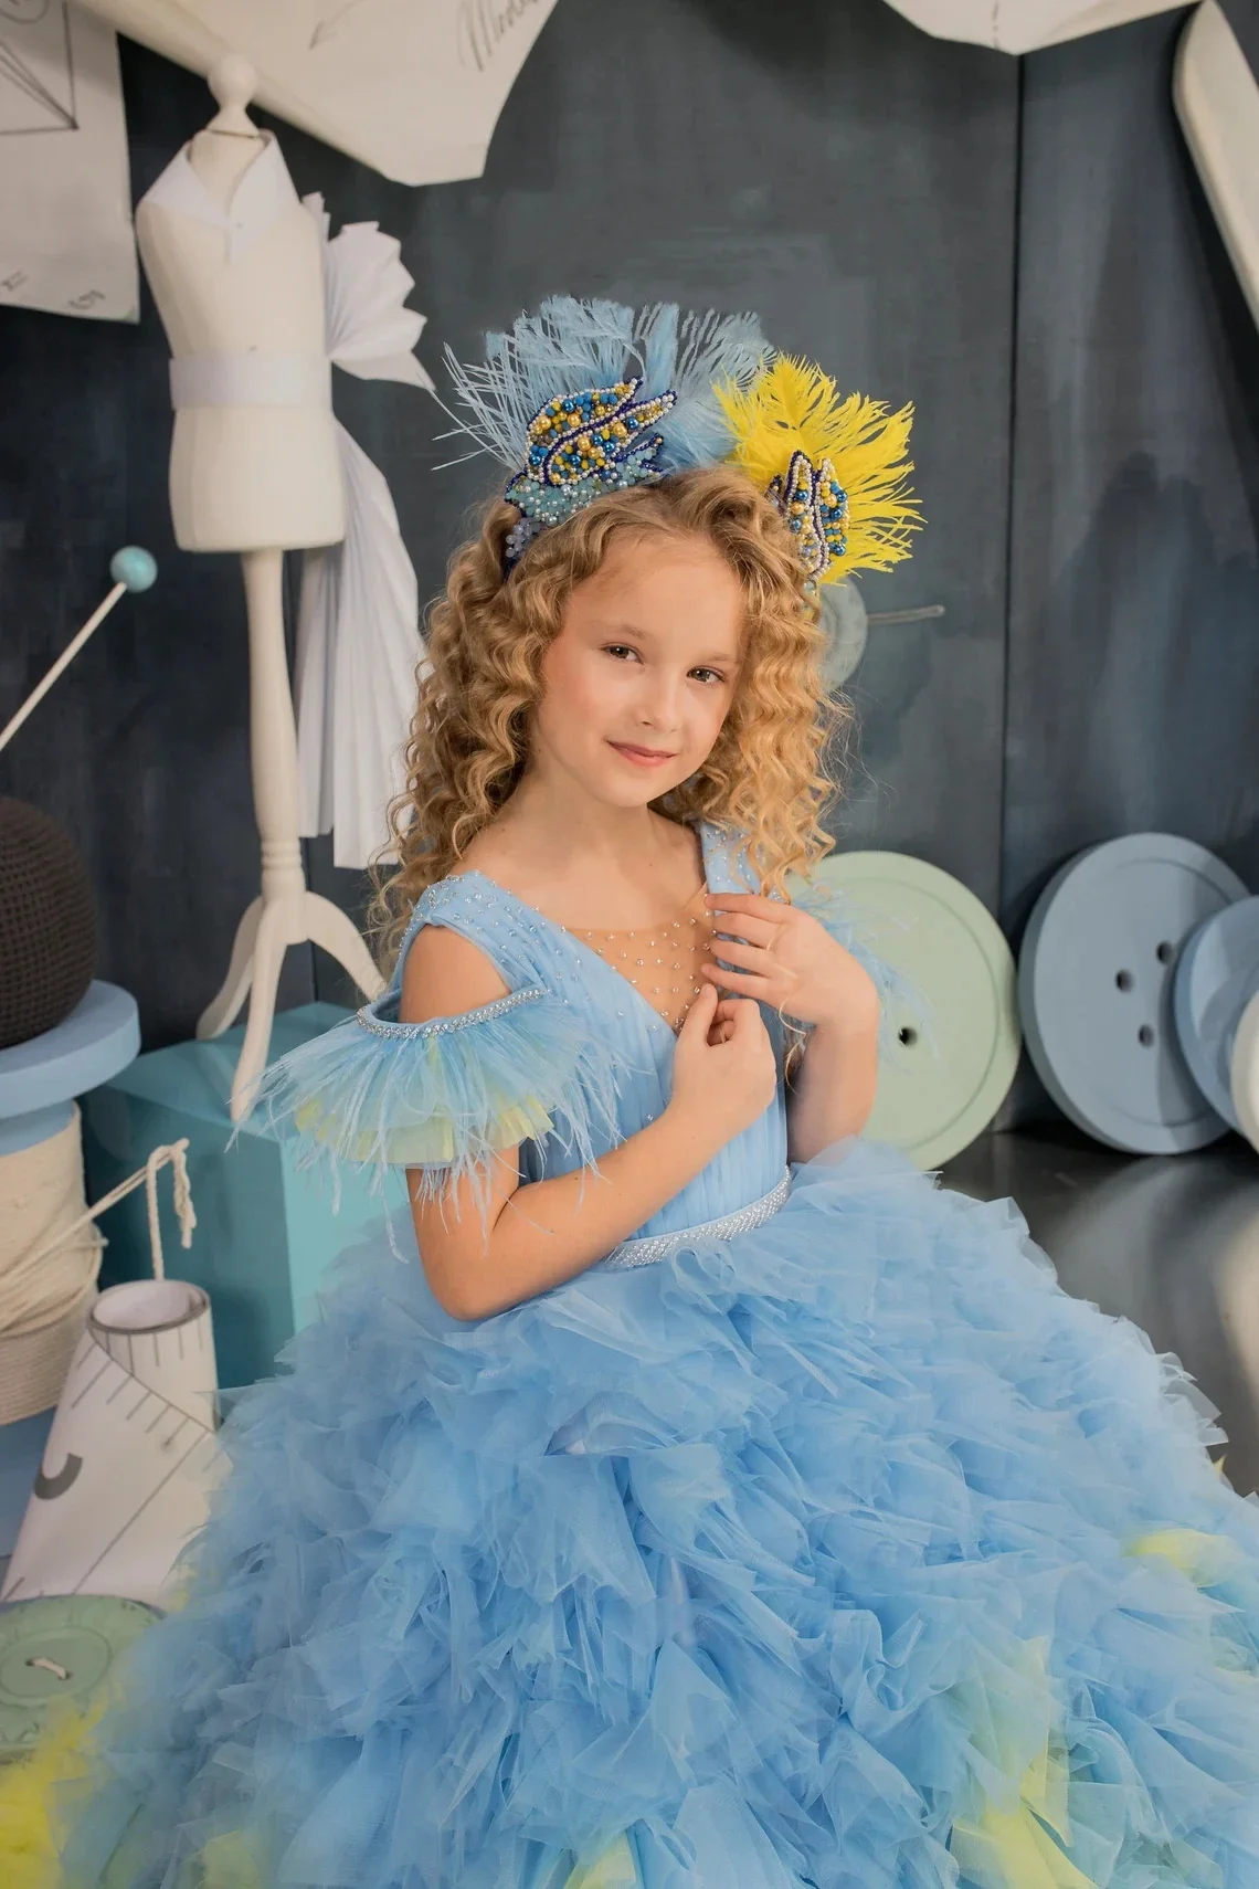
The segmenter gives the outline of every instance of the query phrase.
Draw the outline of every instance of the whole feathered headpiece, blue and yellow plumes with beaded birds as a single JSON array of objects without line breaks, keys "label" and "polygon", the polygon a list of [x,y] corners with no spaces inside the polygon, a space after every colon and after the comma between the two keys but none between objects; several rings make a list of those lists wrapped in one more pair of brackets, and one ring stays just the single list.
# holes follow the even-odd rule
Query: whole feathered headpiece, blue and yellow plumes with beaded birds
[{"label": "whole feathered headpiece, blue and yellow plumes with beaded birds", "polygon": [[912,408],[840,400],[834,382],[774,359],[755,315],[551,297],[485,363],[447,349],[459,427],[510,468],[519,508],[508,569],[546,531],[608,491],[732,463],[781,510],[810,580],[887,570],[919,523],[904,484]]}]

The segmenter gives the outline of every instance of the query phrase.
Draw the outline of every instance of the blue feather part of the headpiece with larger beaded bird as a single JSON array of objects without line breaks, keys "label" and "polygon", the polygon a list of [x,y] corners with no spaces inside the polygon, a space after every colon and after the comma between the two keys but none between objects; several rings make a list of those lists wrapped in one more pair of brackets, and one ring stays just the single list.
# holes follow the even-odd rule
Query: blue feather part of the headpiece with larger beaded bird
[{"label": "blue feather part of the headpiece with larger beaded bird", "polygon": [[768,351],[755,315],[570,295],[519,315],[510,334],[487,334],[483,365],[447,348],[461,429],[512,470],[504,497],[521,521],[508,565],[608,491],[729,459],[736,436],[717,389],[747,389]]}]

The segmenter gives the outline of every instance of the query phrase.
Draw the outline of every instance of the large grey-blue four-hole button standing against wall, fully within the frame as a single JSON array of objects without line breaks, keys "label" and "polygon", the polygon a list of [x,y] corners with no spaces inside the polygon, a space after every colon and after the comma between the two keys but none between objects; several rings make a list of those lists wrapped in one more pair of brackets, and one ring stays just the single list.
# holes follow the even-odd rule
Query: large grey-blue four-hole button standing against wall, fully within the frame
[{"label": "large grey-blue four-hole button standing against wall, fully within the frame", "polygon": [[1040,893],[1019,954],[1027,1048],[1059,1109],[1129,1154],[1183,1154],[1227,1132],[1172,1022],[1189,935],[1246,886],[1172,833],[1133,833],[1068,859]]}]

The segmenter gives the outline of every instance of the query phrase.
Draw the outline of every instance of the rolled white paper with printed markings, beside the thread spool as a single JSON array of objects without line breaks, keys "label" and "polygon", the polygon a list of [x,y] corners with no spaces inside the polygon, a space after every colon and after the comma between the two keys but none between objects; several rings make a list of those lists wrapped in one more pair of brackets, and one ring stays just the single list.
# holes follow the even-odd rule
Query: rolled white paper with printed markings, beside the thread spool
[{"label": "rolled white paper with printed markings, beside the thread spool", "polygon": [[168,1604],[223,1473],[210,1300],[181,1279],[109,1286],[57,1405],[0,1600],[123,1594]]}]

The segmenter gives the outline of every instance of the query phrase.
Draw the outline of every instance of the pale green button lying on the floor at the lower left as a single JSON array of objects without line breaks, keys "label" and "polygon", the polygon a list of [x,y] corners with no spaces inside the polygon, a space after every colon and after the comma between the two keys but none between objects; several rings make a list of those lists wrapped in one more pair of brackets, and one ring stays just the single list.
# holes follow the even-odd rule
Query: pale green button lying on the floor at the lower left
[{"label": "pale green button lying on the floor at the lower left", "polygon": [[160,1615],[109,1594],[47,1594],[0,1608],[0,1761],[30,1751],[49,1708],[92,1702],[113,1662]]}]

